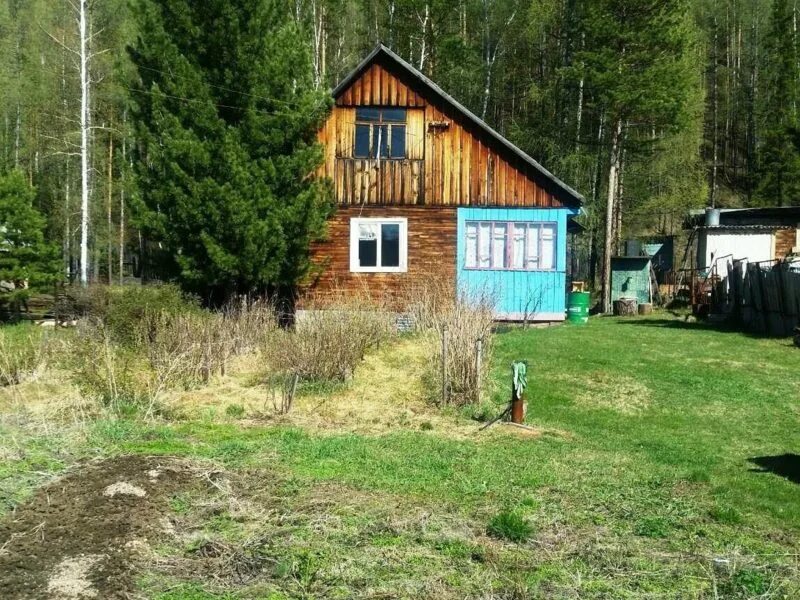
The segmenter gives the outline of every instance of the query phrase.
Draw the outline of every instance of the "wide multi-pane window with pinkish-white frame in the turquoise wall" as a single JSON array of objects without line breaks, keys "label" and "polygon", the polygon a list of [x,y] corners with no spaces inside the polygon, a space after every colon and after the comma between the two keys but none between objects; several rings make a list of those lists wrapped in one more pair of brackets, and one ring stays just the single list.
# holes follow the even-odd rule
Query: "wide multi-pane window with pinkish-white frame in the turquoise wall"
[{"label": "wide multi-pane window with pinkish-white frame in the turquoise wall", "polygon": [[466,269],[554,271],[558,225],[527,221],[467,221]]}]

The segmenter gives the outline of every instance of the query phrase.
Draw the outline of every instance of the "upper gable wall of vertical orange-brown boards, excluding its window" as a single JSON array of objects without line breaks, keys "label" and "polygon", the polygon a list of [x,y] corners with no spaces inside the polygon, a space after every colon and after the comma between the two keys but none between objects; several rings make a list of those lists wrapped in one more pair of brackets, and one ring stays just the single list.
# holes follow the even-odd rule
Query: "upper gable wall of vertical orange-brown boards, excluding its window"
[{"label": "upper gable wall of vertical orange-brown boards, excluding its window", "polygon": [[[412,86],[373,64],[337,98],[319,140],[326,149],[320,175],[334,181],[340,205],[562,206],[526,174],[527,167],[512,164],[508,151],[498,151],[497,142]],[[398,174],[391,160],[342,162],[353,159],[357,106],[406,107],[407,160],[422,164],[401,165]],[[387,181],[395,183],[377,183]]]}]

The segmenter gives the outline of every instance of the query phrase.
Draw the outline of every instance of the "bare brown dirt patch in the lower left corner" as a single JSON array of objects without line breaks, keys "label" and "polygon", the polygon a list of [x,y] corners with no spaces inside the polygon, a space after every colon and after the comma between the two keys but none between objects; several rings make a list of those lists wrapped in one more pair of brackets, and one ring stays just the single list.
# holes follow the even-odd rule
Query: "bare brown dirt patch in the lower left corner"
[{"label": "bare brown dirt patch in the lower left corner", "polygon": [[3,599],[129,598],[137,556],[167,535],[169,498],[203,485],[198,473],[176,458],[121,456],[42,488],[0,523]]}]

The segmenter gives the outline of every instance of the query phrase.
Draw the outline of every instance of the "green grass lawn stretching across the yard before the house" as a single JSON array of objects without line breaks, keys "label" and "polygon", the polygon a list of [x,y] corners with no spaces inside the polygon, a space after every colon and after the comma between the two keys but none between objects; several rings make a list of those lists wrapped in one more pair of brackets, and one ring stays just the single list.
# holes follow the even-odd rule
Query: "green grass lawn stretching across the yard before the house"
[{"label": "green grass lawn stretching across the yard before the house", "polygon": [[[278,512],[299,519],[273,549],[296,558],[275,571],[285,585],[154,575],[153,597],[800,597],[800,351],[668,315],[512,329],[496,336],[498,411],[519,359],[536,435],[102,421],[84,452],[196,456],[274,478]],[[336,526],[320,530],[319,511]],[[500,513],[526,534],[497,539]]]}]

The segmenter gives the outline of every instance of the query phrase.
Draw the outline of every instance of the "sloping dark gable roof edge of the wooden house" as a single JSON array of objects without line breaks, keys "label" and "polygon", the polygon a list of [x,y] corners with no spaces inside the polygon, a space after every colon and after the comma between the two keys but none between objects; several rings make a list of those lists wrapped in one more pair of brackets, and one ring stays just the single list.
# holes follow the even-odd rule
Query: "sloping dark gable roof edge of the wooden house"
[{"label": "sloping dark gable roof edge of the wooden house", "polygon": [[339,98],[370,66],[372,66],[373,63],[376,62],[380,62],[382,66],[388,67],[390,71],[403,74],[413,80],[426,99],[438,101],[440,104],[450,109],[451,112],[462,117],[467,124],[471,125],[486,138],[494,142],[494,145],[498,148],[498,152],[511,159],[515,159],[516,162],[523,164],[529,169],[529,171],[536,176],[536,179],[543,180],[547,187],[550,188],[553,195],[565,205],[579,207],[583,204],[584,197],[581,194],[489,127],[485,121],[477,117],[463,104],[459,103],[455,98],[436,85],[436,83],[419,69],[403,60],[383,44],[378,44],[350,74],[339,82],[333,89],[333,97]]}]

